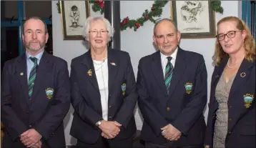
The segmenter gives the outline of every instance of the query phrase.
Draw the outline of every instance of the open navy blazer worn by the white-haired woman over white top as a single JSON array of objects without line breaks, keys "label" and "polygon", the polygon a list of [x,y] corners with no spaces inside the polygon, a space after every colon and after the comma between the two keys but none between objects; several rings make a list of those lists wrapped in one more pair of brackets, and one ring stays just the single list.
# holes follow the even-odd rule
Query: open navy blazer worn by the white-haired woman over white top
[{"label": "open navy blazer worn by the white-haired woman over white top", "polygon": [[[122,124],[114,139],[125,139],[136,132],[134,107],[137,89],[129,54],[108,49],[109,102],[108,120]],[[72,105],[74,118],[70,134],[85,143],[95,143],[101,130],[95,126],[102,118],[102,104],[91,51],[72,59]]]}]

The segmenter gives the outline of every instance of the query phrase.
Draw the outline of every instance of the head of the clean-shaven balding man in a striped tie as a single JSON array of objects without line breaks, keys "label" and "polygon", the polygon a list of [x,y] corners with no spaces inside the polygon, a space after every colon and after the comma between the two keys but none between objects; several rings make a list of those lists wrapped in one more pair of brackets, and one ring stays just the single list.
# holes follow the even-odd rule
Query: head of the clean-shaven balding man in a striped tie
[{"label": "head of the clean-shaven balding man in a striped tie", "polygon": [[180,33],[172,22],[164,20],[155,27],[153,40],[162,54],[170,56],[179,44]]}]

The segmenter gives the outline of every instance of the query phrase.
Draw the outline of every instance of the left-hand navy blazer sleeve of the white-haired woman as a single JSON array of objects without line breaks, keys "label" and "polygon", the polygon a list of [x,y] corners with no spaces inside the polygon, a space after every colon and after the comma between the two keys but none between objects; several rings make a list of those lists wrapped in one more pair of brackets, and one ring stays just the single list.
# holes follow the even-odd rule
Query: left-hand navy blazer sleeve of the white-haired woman
[{"label": "left-hand navy blazer sleeve of the white-haired woman", "polygon": [[71,64],[71,102],[72,106],[74,107],[74,111],[79,115],[79,117],[84,120],[84,122],[89,123],[92,127],[97,128],[95,126],[96,122],[99,120],[102,120],[102,116],[99,115],[92,107],[89,107],[87,102],[82,97],[82,94],[80,93],[80,89],[78,86],[79,78],[77,77],[77,73],[75,70],[75,63],[72,60]]}]

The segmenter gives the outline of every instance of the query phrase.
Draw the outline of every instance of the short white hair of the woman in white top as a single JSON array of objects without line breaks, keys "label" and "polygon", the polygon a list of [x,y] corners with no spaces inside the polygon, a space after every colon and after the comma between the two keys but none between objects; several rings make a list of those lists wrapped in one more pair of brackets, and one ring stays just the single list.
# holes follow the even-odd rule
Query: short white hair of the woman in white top
[{"label": "short white hair of the woman in white top", "polygon": [[82,32],[82,36],[84,39],[89,39],[89,29],[91,27],[91,23],[93,21],[103,21],[106,25],[107,31],[108,31],[108,41],[111,41],[113,35],[114,35],[114,28],[111,26],[109,20],[105,19],[103,16],[89,16],[87,20],[84,22],[84,31]]}]

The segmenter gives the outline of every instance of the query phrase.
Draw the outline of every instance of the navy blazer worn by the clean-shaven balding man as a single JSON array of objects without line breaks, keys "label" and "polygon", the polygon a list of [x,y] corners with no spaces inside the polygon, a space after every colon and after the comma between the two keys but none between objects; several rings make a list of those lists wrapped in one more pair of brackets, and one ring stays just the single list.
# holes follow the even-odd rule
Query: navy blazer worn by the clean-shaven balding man
[{"label": "navy blazer worn by the clean-shaven balding man", "polygon": [[139,60],[139,109],[144,117],[142,139],[164,144],[161,128],[172,124],[182,132],[177,146],[202,145],[207,103],[207,70],[202,55],[178,49],[167,95],[160,52]]}]

